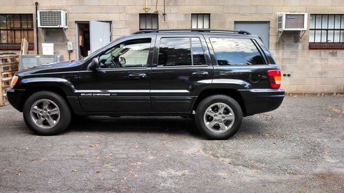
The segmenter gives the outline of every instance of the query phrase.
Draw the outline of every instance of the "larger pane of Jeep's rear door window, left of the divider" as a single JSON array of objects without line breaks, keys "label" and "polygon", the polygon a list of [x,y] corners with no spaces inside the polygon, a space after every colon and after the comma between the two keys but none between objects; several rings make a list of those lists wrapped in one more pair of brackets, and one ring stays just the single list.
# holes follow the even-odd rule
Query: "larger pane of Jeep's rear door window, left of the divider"
[{"label": "larger pane of Jeep's rear door window, left of the divider", "polygon": [[191,65],[190,38],[161,38],[158,65]]}]

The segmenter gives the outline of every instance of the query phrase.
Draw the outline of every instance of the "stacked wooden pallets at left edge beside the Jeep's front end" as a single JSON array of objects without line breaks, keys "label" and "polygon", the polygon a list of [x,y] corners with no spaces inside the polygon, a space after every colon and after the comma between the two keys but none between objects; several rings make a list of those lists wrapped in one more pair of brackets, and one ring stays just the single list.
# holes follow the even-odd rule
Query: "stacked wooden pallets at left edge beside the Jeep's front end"
[{"label": "stacked wooden pallets at left edge beside the Jeep's front end", "polygon": [[18,71],[18,66],[18,55],[0,55],[0,106],[7,103],[6,92],[10,89],[12,77]]}]

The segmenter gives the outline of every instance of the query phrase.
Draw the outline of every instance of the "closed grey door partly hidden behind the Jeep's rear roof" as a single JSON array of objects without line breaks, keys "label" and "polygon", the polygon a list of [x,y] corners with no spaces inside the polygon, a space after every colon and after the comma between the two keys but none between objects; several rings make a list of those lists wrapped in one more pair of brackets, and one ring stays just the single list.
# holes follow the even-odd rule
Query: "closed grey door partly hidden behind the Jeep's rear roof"
[{"label": "closed grey door partly hidden behind the Jeep's rear roof", "polygon": [[268,21],[235,21],[235,30],[245,30],[253,35],[257,35],[264,42],[266,47],[269,47],[269,30],[270,22]]}]

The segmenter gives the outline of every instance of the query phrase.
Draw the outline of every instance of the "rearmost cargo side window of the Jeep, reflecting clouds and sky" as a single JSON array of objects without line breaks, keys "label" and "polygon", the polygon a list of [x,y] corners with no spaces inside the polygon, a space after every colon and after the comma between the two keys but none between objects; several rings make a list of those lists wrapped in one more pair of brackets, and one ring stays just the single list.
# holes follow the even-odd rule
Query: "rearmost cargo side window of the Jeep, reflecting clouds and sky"
[{"label": "rearmost cargo side window of the Jeep, reflecting clouds and sky", "polygon": [[250,39],[210,38],[218,65],[264,65],[264,58]]}]

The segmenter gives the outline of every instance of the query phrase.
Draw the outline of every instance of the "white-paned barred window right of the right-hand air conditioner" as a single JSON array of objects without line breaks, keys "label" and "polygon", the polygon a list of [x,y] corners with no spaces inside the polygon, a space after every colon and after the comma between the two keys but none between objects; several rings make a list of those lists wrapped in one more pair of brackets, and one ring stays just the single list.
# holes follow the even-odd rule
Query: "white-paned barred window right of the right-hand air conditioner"
[{"label": "white-paned barred window right of the right-hand air conditioner", "polygon": [[344,14],[311,14],[310,43],[344,43]]}]

